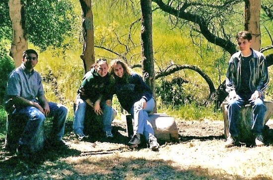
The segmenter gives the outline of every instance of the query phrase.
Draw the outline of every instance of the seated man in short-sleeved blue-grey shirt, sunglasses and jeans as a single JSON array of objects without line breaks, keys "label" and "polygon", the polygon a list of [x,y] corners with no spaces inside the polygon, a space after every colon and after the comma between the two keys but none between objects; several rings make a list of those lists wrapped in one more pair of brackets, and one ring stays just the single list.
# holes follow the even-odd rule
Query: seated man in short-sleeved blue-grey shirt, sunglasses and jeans
[{"label": "seated man in short-sleeved blue-grey shirt, sunglasses and jeans", "polygon": [[[48,102],[42,84],[40,74],[34,70],[38,63],[38,54],[35,50],[26,50],[23,53],[22,64],[14,69],[9,75],[7,82],[5,101],[12,102],[15,111],[8,112],[26,120],[23,133],[19,139],[17,149],[20,155],[30,155],[35,137],[38,136],[39,129],[43,127],[46,117],[53,117],[51,137],[48,138],[50,147],[66,147],[62,137],[65,132],[65,122],[68,110],[61,104]],[[6,104],[10,105],[10,103]],[[9,107],[6,107],[8,110]]]}]

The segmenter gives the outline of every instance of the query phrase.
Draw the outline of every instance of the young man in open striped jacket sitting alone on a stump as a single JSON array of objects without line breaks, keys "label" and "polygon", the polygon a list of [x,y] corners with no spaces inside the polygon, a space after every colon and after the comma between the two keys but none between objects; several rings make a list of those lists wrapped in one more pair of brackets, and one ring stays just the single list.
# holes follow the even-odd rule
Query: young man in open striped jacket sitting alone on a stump
[{"label": "young man in open striped jacket sitting alone on a stump", "polygon": [[241,107],[250,104],[253,107],[252,132],[256,146],[263,146],[264,129],[264,91],[268,88],[269,75],[265,57],[250,48],[252,36],[242,31],[236,35],[239,52],[232,55],[226,73],[226,92],[228,92],[229,136],[225,147],[235,145],[239,134],[238,120]]}]

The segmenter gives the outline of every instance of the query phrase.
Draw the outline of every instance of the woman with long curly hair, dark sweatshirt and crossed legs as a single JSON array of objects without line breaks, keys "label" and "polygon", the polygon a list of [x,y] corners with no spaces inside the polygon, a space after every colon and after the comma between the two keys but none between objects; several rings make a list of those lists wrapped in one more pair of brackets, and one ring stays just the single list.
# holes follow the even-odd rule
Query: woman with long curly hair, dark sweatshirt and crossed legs
[{"label": "woman with long curly hair, dark sweatshirt and crossed legs", "polygon": [[159,144],[148,117],[148,113],[153,111],[155,105],[150,88],[122,60],[112,60],[109,72],[114,77],[110,99],[116,94],[121,106],[134,117],[134,135],[128,145],[136,147],[140,144],[140,134],[143,134],[150,149],[158,151]]}]

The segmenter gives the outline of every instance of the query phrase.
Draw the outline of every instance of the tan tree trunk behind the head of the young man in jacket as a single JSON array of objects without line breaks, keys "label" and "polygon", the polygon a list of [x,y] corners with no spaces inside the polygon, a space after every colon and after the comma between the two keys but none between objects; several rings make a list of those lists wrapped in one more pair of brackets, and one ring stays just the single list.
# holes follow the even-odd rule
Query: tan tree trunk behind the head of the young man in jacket
[{"label": "tan tree trunk behind the head of the young man in jacket", "polygon": [[251,48],[256,51],[261,48],[260,11],[261,0],[245,0],[245,30],[252,34]]}]

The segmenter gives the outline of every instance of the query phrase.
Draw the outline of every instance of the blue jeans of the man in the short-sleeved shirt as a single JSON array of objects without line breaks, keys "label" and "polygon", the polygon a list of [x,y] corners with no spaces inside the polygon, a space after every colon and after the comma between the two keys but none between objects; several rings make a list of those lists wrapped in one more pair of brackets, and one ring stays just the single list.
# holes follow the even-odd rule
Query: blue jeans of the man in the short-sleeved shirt
[{"label": "blue jeans of the man in the short-sleeved shirt", "polygon": [[[53,141],[61,141],[65,133],[65,123],[67,119],[68,109],[61,105],[48,102],[50,113],[48,117],[53,117],[53,125],[50,133],[50,138]],[[32,144],[34,137],[39,129],[43,126],[46,119],[45,115],[37,108],[27,106],[16,109],[14,115],[20,116],[27,121],[22,136],[19,140],[19,145],[29,146]]]}]

